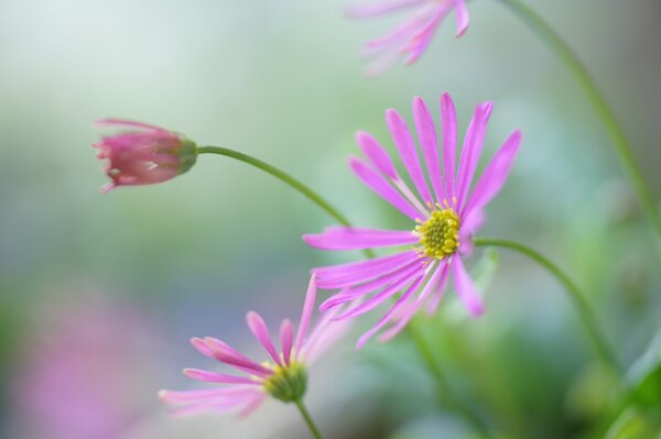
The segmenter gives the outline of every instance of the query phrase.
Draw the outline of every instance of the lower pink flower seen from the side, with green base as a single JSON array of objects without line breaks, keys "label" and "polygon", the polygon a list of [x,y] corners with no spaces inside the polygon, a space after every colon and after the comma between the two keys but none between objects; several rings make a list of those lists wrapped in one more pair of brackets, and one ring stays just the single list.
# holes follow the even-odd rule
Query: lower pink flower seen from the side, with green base
[{"label": "lower pink flower seen from the side, with green base", "polygon": [[269,395],[285,403],[299,400],[307,386],[307,366],[348,329],[346,322],[332,322],[336,312],[328,312],[308,332],[315,298],[316,276],[313,275],[295,337],[295,328],[290,320],[283,320],[280,326],[280,350],[271,340],[260,315],[248,312],[248,327],[270,356],[266,362],[252,361],[212,337],[192,339],[191,342],[201,353],[228,364],[245,375],[185,369],[184,374],[193,380],[227,385],[201,391],[161,391],[159,396],[167,404],[180,406],[175,409],[175,414],[180,415],[239,409],[240,416],[248,416]]}]

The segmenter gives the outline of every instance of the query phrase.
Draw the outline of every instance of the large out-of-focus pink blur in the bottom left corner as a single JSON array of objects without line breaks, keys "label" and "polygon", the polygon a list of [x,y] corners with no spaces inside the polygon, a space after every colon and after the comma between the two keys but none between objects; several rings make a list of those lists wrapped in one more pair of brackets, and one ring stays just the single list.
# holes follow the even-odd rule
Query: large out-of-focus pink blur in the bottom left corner
[{"label": "large out-of-focus pink blur in the bottom left corner", "polygon": [[88,296],[42,304],[21,343],[11,380],[17,437],[116,439],[149,416],[155,328],[134,309]]}]

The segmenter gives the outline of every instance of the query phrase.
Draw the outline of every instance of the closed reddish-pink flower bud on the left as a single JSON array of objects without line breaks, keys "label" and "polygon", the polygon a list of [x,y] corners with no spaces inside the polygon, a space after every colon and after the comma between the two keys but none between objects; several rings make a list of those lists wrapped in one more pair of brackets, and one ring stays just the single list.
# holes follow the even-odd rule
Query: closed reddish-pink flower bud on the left
[{"label": "closed reddish-pink flower bud on the left", "polygon": [[188,171],[196,160],[195,143],[172,131],[147,123],[104,119],[98,125],[130,130],[94,144],[99,158],[108,158],[106,174],[117,186],[153,185]]}]

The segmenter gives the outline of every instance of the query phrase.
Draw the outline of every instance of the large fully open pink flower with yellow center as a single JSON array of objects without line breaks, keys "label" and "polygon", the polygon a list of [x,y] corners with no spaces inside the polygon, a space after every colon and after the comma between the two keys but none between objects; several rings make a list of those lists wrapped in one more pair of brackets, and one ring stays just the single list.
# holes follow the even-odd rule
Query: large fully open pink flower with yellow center
[{"label": "large fully open pink flower with yellow center", "polygon": [[337,315],[336,320],[360,316],[401,293],[379,322],[360,338],[358,347],[389,323],[390,328],[379,339],[391,339],[423,304],[426,304],[427,312],[435,312],[451,274],[468,310],[474,315],[483,312],[480,296],[462,256],[470,252],[472,234],[484,222],[484,208],[505,184],[521,142],[519,131],[510,134],[470,193],[491,108],[492,102],[476,107],[455,173],[457,122],[452,98],[447,94],[441,98],[442,163],[434,121],[424,101],[418,97],[413,99],[413,119],[432,190],[407,122],[395,110],[386,111],[390,134],[419,196],[409,188],[386,150],[370,134],[356,134],[356,141],[368,161],[351,157],[349,165],[354,174],[415,222],[412,230],[332,227],[321,234],[303,237],[310,245],[324,250],[410,246],[373,260],[313,268],[321,288],[340,289],[322,304],[322,310],[372,295]]}]

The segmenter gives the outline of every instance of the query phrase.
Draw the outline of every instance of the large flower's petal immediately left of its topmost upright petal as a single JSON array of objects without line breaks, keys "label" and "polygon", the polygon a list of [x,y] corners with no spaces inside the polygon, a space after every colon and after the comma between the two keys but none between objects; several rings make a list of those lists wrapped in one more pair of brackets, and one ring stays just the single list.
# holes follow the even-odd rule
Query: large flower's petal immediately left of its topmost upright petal
[{"label": "large flower's petal immediately left of its topmost upright petal", "polygon": [[436,201],[442,202],[443,193],[443,173],[441,172],[441,156],[438,154],[438,139],[436,136],[436,127],[430,111],[420,97],[413,98],[413,120],[418,130],[418,139],[422,145],[422,154],[436,195]]}]

